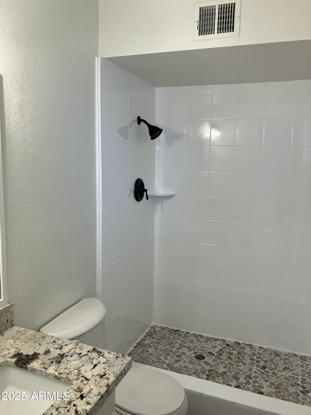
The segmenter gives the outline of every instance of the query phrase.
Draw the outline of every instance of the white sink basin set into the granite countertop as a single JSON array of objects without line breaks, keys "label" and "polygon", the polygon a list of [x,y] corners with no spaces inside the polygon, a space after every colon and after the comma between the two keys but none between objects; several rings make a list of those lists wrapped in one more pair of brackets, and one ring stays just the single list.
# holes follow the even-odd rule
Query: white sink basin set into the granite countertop
[{"label": "white sink basin set into the granite countertop", "polygon": [[15,366],[1,366],[0,414],[42,415],[68,390],[69,384],[65,382]]}]

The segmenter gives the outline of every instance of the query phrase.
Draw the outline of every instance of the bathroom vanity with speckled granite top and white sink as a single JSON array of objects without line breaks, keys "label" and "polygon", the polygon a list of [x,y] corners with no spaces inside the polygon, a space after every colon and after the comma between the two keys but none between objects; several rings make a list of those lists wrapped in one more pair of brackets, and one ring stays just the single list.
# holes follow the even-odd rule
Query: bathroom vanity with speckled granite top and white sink
[{"label": "bathroom vanity with speckled granite top and white sink", "polygon": [[13,312],[0,308],[0,413],[112,414],[131,358],[17,327]]}]

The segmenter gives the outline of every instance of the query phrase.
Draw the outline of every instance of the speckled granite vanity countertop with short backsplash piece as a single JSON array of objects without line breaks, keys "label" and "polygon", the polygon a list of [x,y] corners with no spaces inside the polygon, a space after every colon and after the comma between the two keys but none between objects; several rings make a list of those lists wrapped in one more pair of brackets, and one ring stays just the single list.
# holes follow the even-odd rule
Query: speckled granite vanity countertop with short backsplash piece
[{"label": "speckled granite vanity countertop with short backsplash piece", "polygon": [[5,324],[0,366],[15,365],[70,383],[69,400],[55,402],[44,415],[95,415],[129,371],[131,358],[21,327],[7,328],[13,325],[12,306],[0,308],[0,333]]}]

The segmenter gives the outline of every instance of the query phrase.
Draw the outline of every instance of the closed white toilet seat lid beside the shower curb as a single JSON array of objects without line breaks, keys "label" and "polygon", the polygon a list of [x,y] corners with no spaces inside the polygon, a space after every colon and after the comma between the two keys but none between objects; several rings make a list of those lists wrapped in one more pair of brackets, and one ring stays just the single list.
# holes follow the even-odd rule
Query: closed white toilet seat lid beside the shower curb
[{"label": "closed white toilet seat lid beside the shower curb", "polygon": [[116,405],[135,415],[170,415],[184,399],[178,380],[148,368],[132,367],[116,388]]}]

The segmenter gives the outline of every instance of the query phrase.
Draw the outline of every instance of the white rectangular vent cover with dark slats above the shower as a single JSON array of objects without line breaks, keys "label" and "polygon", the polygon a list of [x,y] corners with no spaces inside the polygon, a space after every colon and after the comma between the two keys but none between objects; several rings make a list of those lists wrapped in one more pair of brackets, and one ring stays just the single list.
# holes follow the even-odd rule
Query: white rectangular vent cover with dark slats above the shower
[{"label": "white rectangular vent cover with dark slats above the shower", "polygon": [[194,4],[193,40],[240,35],[241,0]]}]

